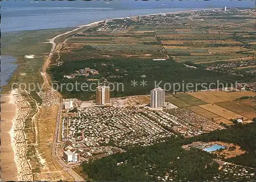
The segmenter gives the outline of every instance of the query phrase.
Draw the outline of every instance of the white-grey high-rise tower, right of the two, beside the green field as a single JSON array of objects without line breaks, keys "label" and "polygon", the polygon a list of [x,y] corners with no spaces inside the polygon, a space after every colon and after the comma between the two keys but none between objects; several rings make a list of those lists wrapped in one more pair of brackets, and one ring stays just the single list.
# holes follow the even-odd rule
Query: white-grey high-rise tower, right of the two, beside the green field
[{"label": "white-grey high-rise tower, right of the two, beside the green field", "polygon": [[150,106],[153,108],[163,107],[165,100],[164,89],[158,87],[154,88],[150,92]]}]

